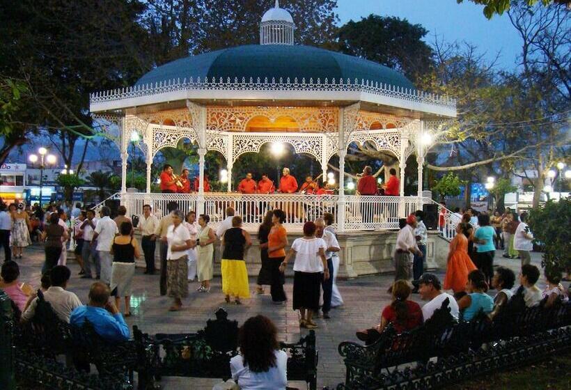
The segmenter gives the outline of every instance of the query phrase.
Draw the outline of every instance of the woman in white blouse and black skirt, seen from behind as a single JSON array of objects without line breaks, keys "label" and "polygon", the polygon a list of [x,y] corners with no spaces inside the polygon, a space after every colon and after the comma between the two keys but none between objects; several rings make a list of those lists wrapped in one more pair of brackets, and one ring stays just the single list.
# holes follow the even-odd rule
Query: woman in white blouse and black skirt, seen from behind
[{"label": "woman in white blouse and black skirt, seen from behind", "polygon": [[290,258],[295,257],[293,266],[293,309],[300,314],[299,326],[308,329],[318,327],[311,319],[314,311],[319,310],[321,281],[329,279],[329,268],[325,258],[325,244],[322,238],[315,237],[316,226],[313,222],[304,224],[304,237],[297,238],[288,252],[280,271],[286,270]]}]

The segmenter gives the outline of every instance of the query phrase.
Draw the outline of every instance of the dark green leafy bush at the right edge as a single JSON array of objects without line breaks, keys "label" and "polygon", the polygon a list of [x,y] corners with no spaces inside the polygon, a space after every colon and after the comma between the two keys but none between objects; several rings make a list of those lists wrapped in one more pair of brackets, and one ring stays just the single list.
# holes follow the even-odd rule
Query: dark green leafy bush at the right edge
[{"label": "dark green leafy bush at the right edge", "polygon": [[543,207],[532,209],[529,226],[535,242],[544,248],[543,265],[547,269],[571,269],[571,198],[548,201]]}]

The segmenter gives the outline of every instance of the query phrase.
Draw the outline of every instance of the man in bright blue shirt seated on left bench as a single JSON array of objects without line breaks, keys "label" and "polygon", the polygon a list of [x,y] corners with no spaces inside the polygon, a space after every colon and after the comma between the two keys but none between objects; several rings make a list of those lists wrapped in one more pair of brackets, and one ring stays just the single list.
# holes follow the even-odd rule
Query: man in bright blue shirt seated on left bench
[{"label": "man in bright blue shirt seated on left bench", "polygon": [[88,320],[102,338],[107,341],[126,341],[129,339],[129,327],[119,313],[117,306],[109,302],[109,287],[105,283],[95,282],[89,289],[89,302],[86,306],[75,308],[70,315],[70,325],[81,326]]}]

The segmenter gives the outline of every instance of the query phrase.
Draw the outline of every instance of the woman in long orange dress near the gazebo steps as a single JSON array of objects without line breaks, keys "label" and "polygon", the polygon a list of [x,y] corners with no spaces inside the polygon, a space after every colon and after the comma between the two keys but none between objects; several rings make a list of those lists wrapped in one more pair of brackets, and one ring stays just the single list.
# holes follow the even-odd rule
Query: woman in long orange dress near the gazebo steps
[{"label": "woman in long orange dress near the gazebo steps", "polygon": [[468,274],[477,269],[468,256],[468,239],[462,234],[463,228],[463,223],[456,226],[456,236],[450,243],[448,267],[446,267],[446,276],[444,276],[444,290],[464,291]]}]

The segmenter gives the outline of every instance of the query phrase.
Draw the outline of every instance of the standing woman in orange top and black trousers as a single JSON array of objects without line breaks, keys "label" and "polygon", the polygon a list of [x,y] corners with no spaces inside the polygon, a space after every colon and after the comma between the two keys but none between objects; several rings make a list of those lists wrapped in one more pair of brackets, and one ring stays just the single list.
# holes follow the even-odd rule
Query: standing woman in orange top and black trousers
[{"label": "standing woman in orange top and black trousers", "polygon": [[285,212],[279,209],[272,211],[272,228],[267,235],[267,258],[272,277],[269,292],[272,295],[272,304],[283,304],[287,299],[286,292],[283,291],[286,279],[280,270],[281,263],[286,258],[288,245],[288,232],[282,226],[284,221],[286,221]]}]

